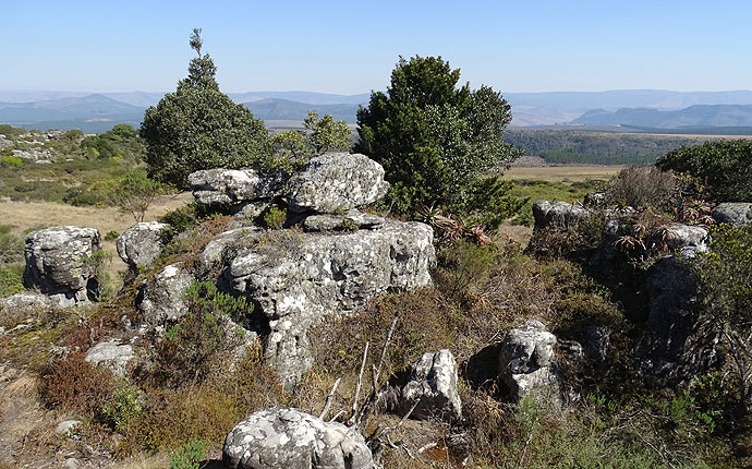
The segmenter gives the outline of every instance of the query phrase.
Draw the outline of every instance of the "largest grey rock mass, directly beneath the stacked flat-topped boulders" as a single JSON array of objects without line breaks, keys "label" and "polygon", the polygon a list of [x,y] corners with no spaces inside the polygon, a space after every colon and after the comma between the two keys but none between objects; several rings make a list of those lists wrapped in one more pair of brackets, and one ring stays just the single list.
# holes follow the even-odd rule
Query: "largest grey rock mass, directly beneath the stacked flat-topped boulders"
[{"label": "largest grey rock mass, directly beneath the stacked flat-topped boulders", "polygon": [[433,230],[419,223],[387,221],[345,234],[268,236],[278,238],[258,238],[256,249],[230,262],[223,280],[269,320],[266,356],[287,384],[313,364],[311,326],[329,314],[348,314],[387,289],[430,284],[436,262]]}]

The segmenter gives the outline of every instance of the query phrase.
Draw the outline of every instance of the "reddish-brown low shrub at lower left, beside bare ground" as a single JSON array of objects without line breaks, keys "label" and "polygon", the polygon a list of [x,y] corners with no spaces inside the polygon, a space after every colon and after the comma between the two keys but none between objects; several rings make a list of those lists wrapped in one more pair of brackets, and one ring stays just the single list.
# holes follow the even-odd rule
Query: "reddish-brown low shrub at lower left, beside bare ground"
[{"label": "reddish-brown low shrub at lower left, beside bare ground", "polygon": [[83,352],[71,352],[53,360],[41,373],[39,397],[49,407],[63,407],[88,417],[98,417],[112,400],[112,372],[85,360]]}]

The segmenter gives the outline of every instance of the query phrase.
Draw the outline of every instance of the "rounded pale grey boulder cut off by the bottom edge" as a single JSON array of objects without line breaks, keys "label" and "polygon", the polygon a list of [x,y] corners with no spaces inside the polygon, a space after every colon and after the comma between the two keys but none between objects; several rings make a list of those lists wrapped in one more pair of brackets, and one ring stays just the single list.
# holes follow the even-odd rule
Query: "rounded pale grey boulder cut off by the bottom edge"
[{"label": "rounded pale grey boulder cut off by the bottom edge", "polygon": [[369,469],[373,456],[357,432],[296,409],[255,412],[225,438],[230,469]]}]

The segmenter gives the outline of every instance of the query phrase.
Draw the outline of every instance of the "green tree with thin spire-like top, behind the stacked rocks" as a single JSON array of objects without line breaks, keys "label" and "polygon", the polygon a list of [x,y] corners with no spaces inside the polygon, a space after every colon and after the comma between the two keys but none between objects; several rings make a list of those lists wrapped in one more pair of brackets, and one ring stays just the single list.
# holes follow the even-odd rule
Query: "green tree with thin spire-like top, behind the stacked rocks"
[{"label": "green tree with thin spire-like top, behind the stacked rocks", "polygon": [[199,33],[191,36],[198,57],[191,60],[189,76],[146,110],[141,127],[149,176],[183,189],[198,169],[275,166],[264,122],[219,91],[217,68],[202,55]]}]

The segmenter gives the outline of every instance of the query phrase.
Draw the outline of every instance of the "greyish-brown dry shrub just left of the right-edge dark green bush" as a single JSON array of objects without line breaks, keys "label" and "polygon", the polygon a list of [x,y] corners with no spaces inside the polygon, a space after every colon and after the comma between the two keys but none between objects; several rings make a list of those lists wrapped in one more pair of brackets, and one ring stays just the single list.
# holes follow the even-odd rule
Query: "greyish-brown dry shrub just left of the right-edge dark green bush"
[{"label": "greyish-brown dry shrub just left of the right-edge dark green bush", "polygon": [[667,212],[679,185],[679,180],[670,171],[662,171],[655,166],[630,166],[609,182],[609,202]]}]

